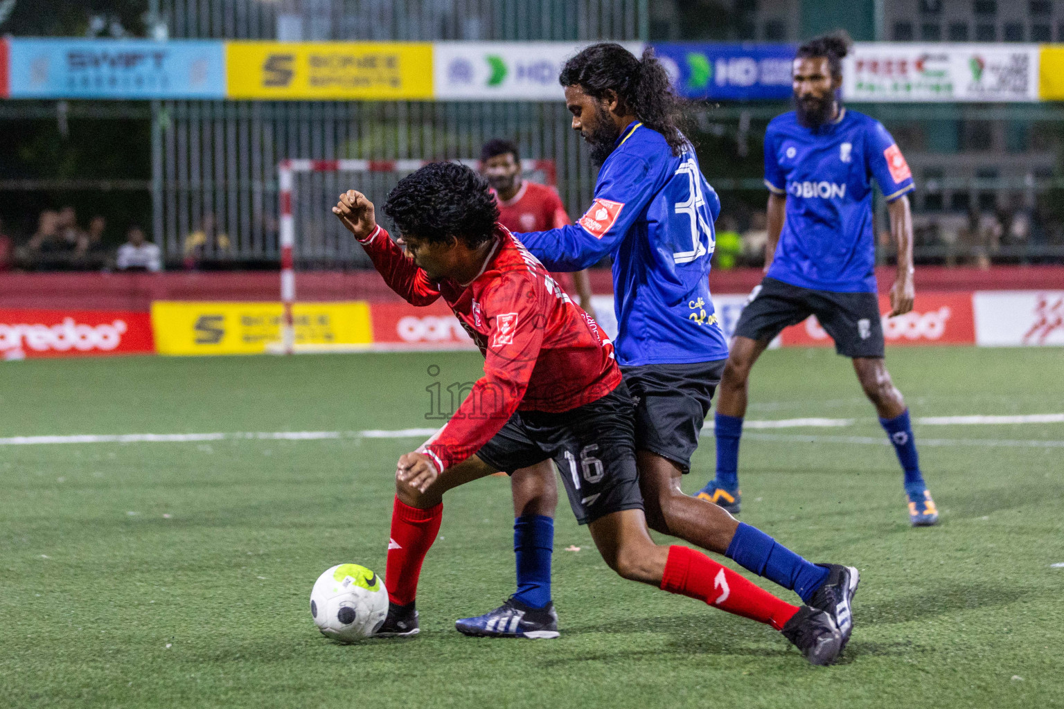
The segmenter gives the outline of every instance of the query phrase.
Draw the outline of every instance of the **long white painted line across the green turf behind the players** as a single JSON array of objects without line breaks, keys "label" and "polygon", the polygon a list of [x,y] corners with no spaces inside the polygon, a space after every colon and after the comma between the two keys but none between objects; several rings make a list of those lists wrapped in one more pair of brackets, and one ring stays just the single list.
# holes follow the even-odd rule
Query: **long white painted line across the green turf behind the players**
[{"label": "long white painted line across the green turf behind the players", "polygon": [[[836,428],[851,426],[854,419],[779,419],[768,421],[751,420],[744,423],[745,428]],[[942,416],[916,419],[917,424],[936,425],[980,425],[980,424],[1030,424],[1030,423],[1064,423],[1064,413],[1032,413],[1026,416]],[[712,429],[713,422],[706,422],[703,431]],[[81,434],[73,436],[11,436],[0,438],[0,445],[50,445],[57,443],[192,443],[221,440],[283,440],[283,441],[316,441],[337,438],[427,438],[438,428],[398,428],[368,431],[278,431],[251,433],[205,433],[205,434]],[[887,441],[879,437],[865,436],[802,436],[749,434],[749,437],[764,440],[798,440],[850,443],[876,443],[886,445]],[[940,441],[940,442],[935,442]],[[949,441],[949,442],[945,442]],[[920,445],[1035,445],[1058,448],[1064,441],[1046,440],[967,440],[967,439],[933,439],[920,438]]]}]

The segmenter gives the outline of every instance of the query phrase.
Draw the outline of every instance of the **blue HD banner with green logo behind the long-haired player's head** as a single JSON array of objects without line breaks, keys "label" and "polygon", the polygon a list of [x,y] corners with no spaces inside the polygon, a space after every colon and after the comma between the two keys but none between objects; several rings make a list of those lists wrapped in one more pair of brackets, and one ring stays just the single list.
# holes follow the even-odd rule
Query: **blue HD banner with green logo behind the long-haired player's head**
[{"label": "blue HD banner with green logo behind the long-haired player's head", "polygon": [[654,52],[688,99],[791,98],[793,45],[666,43]]}]

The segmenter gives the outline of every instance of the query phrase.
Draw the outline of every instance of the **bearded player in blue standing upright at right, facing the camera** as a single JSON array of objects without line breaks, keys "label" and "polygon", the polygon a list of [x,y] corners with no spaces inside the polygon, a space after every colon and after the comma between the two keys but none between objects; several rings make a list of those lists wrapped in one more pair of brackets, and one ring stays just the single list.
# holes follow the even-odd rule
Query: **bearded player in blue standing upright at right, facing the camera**
[{"label": "bearded player in blue standing upright at right, facing the camera", "polygon": [[[717,471],[699,492],[738,512],[738,442],[750,368],[787,325],[815,315],[853,360],[904,469],[914,526],[938,521],[920,473],[909,409],[883,364],[883,328],[876,296],[871,180],[888,203],[898,247],[891,317],[913,309],[913,225],[907,193],[913,176],[894,138],[868,116],[835,99],[842,85],[844,34],[812,39],[794,61],[797,109],[777,117],[765,134],[768,236],[765,278],[735,326],[717,401]],[[775,253],[774,253],[775,252]]]}]

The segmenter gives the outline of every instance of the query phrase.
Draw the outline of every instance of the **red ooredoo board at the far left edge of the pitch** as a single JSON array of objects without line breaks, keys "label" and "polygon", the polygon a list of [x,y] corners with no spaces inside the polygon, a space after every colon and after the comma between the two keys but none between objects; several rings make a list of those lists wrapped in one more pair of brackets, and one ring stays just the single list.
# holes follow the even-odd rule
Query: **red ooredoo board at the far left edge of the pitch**
[{"label": "red ooredoo board at the far left edge of the pitch", "polygon": [[0,356],[78,357],[151,354],[147,313],[0,309]]}]

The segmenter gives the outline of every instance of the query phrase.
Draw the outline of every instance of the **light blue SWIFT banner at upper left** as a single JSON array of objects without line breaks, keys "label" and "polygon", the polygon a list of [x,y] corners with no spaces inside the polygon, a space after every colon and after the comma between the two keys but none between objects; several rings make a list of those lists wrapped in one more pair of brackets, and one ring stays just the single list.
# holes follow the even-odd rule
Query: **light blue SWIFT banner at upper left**
[{"label": "light blue SWIFT banner at upper left", "polygon": [[7,40],[13,99],[221,99],[220,41]]}]

